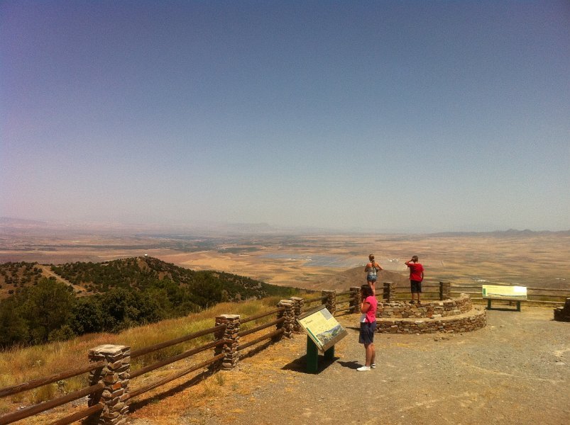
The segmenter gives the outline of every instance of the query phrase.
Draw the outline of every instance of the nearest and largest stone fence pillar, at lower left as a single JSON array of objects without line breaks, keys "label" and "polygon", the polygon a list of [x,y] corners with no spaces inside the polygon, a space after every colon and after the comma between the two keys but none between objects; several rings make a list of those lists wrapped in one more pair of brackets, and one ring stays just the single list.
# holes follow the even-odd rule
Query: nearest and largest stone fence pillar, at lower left
[{"label": "nearest and largest stone fence pillar, at lower left", "polygon": [[128,380],[131,378],[131,347],[101,345],[89,350],[89,361],[105,361],[102,368],[89,372],[89,385],[102,382],[105,387],[100,392],[89,395],[88,404],[94,406],[102,402],[103,410],[84,419],[86,425],[124,424],[128,412]]}]

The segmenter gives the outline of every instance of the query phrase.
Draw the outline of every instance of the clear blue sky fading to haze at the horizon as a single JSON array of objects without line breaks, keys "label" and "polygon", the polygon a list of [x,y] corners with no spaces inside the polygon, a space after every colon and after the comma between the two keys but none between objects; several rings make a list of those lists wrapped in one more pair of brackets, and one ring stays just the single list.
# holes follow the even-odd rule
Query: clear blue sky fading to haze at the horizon
[{"label": "clear blue sky fading to haze at the horizon", "polygon": [[2,1],[0,216],[570,229],[567,1]]}]

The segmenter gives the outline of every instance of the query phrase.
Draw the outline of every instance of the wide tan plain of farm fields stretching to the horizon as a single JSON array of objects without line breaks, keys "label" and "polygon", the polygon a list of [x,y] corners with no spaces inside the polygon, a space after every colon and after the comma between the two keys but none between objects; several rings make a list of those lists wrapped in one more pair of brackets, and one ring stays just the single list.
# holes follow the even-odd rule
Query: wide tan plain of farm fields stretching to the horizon
[{"label": "wide tan plain of farm fields stretching to the horizon", "polygon": [[325,288],[327,278],[363,266],[368,254],[374,253],[383,268],[404,276],[404,261],[419,256],[428,281],[570,288],[569,232],[206,237],[123,233],[0,232],[0,263],[101,262],[148,255],[197,271],[226,271],[277,285]]}]

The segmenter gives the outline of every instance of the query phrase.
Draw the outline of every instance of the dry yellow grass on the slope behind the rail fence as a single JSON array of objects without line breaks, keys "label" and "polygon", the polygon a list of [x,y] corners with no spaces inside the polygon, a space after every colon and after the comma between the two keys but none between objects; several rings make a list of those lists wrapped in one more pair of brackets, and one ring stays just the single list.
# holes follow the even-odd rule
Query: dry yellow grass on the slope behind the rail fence
[{"label": "dry yellow grass on the slope behind the rail fence", "polygon": [[[241,317],[248,317],[264,311],[274,310],[277,302],[278,299],[276,297],[269,297],[264,300],[253,300],[243,303],[221,303],[209,310],[190,314],[187,317],[164,320],[156,324],[127,329],[120,334],[89,334],[80,336],[72,341],[26,348],[12,348],[0,353],[0,387],[28,382],[29,380],[43,378],[45,376],[61,373],[65,370],[87,365],[89,363],[87,358],[89,349],[95,346],[117,344],[131,346],[131,349],[136,350],[175,339],[186,334],[192,334],[202,329],[214,327],[214,318],[217,315],[240,314]],[[271,319],[271,317],[268,319]],[[248,323],[248,326],[255,326],[255,324]],[[150,364],[161,358],[181,353],[190,347],[202,345],[205,341],[212,341],[212,335],[202,336],[184,344],[177,344],[177,346],[165,348],[158,353],[141,356],[133,360],[133,370],[140,368],[141,365]],[[212,352],[208,351],[204,353],[204,356],[211,356],[211,354]],[[188,361],[181,363],[185,363],[185,367],[187,367],[187,362]],[[152,375],[150,378],[153,380],[163,378],[163,376],[172,373],[172,368],[175,368],[175,366],[164,368],[164,370],[157,370],[148,375]],[[149,377],[143,378],[150,379]],[[224,385],[224,383],[224,378],[220,375],[218,378],[215,378],[213,385],[221,386]],[[19,406],[53,399],[62,394],[80,390],[86,386],[87,374],[65,381],[59,381],[51,385],[45,385],[35,390],[22,392],[13,397],[0,399],[0,412],[10,412]],[[210,390],[211,389],[212,388],[210,388]],[[210,390],[208,390],[208,387],[205,387],[204,391],[207,393]]]}]

